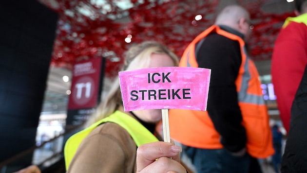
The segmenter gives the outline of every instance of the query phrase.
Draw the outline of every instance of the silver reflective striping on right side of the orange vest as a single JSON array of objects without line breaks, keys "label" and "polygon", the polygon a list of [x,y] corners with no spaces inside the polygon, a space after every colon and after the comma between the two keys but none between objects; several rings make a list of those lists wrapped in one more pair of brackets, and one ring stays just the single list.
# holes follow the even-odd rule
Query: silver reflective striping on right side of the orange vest
[{"label": "silver reflective striping on right side of the orange vest", "polygon": [[[246,49],[243,46],[244,53],[246,53]],[[246,61],[244,64],[244,73],[242,75],[242,82],[241,82],[241,89],[238,92],[238,100],[242,103],[248,103],[248,104],[265,104],[265,101],[263,99],[263,96],[258,96],[254,94],[248,94],[247,90],[249,88],[249,80],[250,80],[250,74],[249,74],[249,56],[246,56]],[[260,85],[259,85],[260,87]]]}]

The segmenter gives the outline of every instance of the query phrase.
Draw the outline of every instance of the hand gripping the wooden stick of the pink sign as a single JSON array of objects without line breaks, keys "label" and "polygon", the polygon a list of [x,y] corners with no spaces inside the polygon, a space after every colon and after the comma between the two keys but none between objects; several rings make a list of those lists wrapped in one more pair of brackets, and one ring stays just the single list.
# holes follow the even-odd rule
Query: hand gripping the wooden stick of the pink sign
[{"label": "hand gripping the wooden stick of the pink sign", "polygon": [[136,173],[186,173],[180,164],[182,148],[173,143],[158,141],[139,146]]}]

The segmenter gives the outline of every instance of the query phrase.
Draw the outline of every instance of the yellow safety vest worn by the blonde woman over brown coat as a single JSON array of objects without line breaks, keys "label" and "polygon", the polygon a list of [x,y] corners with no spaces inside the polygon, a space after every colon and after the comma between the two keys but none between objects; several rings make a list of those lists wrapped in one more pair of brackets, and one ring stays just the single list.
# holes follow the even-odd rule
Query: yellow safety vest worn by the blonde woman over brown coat
[{"label": "yellow safety vest worn by the blonde woman over brown coat", "polygon": [[133,117],[121,112],[115,111],[109,117],[106,117],[96,123],[92,124],[90,127],[76,133],[71,136],[65,143],[64,147],[64,158],[65,167],[68,170],[70,162],[77,152],[77,148],[82,142],[82,140],[90,134],[99,124],[104,122],[114,122],[124,129],[126,129],[131,137],[133,138],[137,147],[142,144],[158,141],[158,139],[140,122],[136,121]]}]

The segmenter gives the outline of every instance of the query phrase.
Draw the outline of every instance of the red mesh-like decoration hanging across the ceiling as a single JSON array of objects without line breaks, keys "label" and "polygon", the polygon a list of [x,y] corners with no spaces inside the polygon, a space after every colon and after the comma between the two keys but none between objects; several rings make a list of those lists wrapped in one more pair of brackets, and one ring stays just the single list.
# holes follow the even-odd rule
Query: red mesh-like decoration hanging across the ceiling
[{"label": "red mesh-like decoration hanging across the ceiling", "polygon": [[[75,61],[106,57],[106,75],[120,69],[122,54],[132,44],[157,40],[178,57],[192,39],[212,25],[218,0],[39,0],[59,14],[51,66],[71,68]],[[292,13],[268,14],[261,6],[268,0],[239,0],[252,18],[249,40],[251,58],[270,59],[276,35]],[[123,10],[116,3],[129,2]],[[194,17],[202,15],[196,21]],[[125,42],[132,35],[132,42]]]}]

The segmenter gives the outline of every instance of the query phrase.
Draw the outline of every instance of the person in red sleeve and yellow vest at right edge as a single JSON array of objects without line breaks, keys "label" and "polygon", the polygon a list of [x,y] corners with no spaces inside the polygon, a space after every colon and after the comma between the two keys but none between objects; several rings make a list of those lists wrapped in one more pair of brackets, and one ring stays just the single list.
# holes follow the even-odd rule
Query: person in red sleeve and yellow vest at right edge
[{"label": "person in red sleeve and yellow vest at right edge", "polygon": [[295,0],[295,14],[288,17],[276,38],[271,76],[280,119],[289,131],[290,109],[307,64],[307,0]]}]

